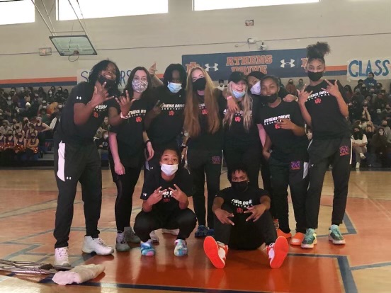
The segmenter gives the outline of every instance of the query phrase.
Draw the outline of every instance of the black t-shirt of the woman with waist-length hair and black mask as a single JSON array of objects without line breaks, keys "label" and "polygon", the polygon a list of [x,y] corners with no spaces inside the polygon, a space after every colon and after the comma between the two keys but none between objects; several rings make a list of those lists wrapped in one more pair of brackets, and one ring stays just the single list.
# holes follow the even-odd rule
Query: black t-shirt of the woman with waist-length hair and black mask
[{"label": "black t-shirt of the woman with waist-length hair and black mask", "polygon": [[210,149],[221,150],[223,146],[223,130],[222,130],[222,118],[224,117],[224,110],[227,108],[227,100],[222,96],[222,91],[215,88],[213,95],[217,99],[217,111],[220,120],[220,128],[215,133],[208,131],[208,109],[205,106],[205,97],[198,96],[198,119],[200,122],[200,134],[198,137],[190,137],[187,142],[187,146],[191,149]]}]

